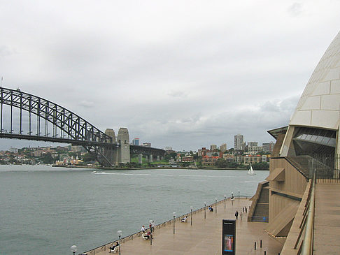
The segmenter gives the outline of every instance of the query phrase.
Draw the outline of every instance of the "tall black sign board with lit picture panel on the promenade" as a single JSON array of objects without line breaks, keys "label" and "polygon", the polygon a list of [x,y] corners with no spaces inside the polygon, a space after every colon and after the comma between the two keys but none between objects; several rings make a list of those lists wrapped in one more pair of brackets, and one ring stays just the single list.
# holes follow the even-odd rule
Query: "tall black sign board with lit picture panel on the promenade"
[{"label": "tall black sign board with lit picture panel on the promenade", "polygon": [[236,221],[222,220],[222,255],[235,255],[236,249]]}]

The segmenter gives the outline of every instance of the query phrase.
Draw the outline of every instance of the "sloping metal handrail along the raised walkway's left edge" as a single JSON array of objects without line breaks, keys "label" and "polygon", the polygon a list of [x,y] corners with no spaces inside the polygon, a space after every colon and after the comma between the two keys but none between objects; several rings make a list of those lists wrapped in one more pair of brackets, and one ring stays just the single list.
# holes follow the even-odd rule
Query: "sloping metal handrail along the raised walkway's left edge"
[{"label": "sloping metal handrail along the raised walkway's left edge", "polygon": [[302,244],[302,255],[313,254],[313,237],[314,237],[314,212],[316,202],[316,169],[314,169],[313,182],[311,187],[311,199],[309,201],[308,216],[306,219],[306,231],[304,233],[304,242]]}]

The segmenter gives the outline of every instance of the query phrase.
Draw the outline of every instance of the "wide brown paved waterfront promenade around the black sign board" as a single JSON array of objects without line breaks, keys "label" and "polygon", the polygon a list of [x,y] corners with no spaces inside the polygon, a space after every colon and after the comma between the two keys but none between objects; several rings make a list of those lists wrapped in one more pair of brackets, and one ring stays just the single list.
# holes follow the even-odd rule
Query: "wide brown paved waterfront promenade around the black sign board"
[{"label": "wide brown paved waterfront promenade around the black sign board", "polygon": [[[218,203],[217,213],[204,210],[192,214],[192,226],[190,224],[190,214],[186,223],[176,221],[173,235],[173,221],[155,229],[153,245],[150,241],[141,237],[134,237],[133,240],[126,240],[122,243],[121,254],[159,254],[159,255],[200,255],[200,254],[222,254],[222,219],[235,219],[236,210],[243,212],[243,207],[249,207],[251,201],[246,198],[238,198],[234,202],[227,201]],[[215,208],[215,206],[214,206]],[[236,222],[236,254],[264,254],[277,255],[281,252],[282,245],[271,238],[263,231],[266,223],[247,222],[248,214],[243,214]],[[260,248],[262,240],[262,248]],[[257,250],[254,251],[254,242],[257,242]],[[105,249],[105,250],[104,250]],[[88,255],[93,254],[89,252]],[[96,255],[110,254],[108,247],[102,247],[101,251],[96,250]]]}]

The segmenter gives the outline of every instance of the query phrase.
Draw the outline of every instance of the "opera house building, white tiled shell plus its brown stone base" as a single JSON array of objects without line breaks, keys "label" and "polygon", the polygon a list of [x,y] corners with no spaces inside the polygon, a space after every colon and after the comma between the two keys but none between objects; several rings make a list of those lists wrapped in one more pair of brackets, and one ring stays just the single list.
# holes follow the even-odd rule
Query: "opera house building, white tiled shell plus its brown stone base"
[{"label": "opera house building, white tiled shell plus its brown stone base", "polygon": [[276,138],[269,176],[251,198],[248,221],[268,222],[267,233],[284,244],[282,255],[298,254],[303,246],[311,178],[340,183],[339,121],[340,33],[311,75],[289,125],[268,131]]}]

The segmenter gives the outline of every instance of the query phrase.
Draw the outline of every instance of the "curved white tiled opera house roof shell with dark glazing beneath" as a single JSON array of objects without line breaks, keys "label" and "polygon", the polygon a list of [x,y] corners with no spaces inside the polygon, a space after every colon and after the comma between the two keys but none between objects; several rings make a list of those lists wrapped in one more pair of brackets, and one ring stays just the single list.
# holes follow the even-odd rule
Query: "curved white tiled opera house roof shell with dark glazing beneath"
[{"label": "curved white tiled opera house roof shell with dark glazing beneath", "polygon": [[290,119],[280,156],[339,154],[340,33],[334,38]]}]

